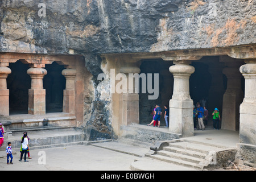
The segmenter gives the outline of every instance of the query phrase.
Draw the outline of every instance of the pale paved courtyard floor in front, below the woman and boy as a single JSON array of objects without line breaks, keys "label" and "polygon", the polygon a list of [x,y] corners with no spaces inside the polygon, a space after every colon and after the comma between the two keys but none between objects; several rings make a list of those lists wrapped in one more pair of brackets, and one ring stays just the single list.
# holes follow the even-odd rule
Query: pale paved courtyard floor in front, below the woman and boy
[{"label": "pale paved courtyard floor in front, below the woman and boy", "polygon": [[[46,154],[46,164],[39,151]],[[0,170],[24,170],[24,171],[54,171],[54,170],[83,170],[83,171],[129,171],[130,164],[138,159],[137,156],[123,154],[94,146],[68,146],[58,148],[46,148],[45,150],[32,150],[29,162],[19,162],[19,154],[14,155],[13,165],[6,164],[6,158],[0,159]]]}]

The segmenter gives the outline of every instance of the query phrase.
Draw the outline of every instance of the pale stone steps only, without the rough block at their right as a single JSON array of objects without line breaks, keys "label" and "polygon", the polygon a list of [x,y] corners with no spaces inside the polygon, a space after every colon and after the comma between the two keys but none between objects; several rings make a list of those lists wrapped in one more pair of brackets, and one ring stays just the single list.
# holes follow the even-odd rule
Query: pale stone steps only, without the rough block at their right
[{"label": "pale stone steps only, without the rough block at their right", "polygon": [[152,148],[151,150],[155,150],[155,152],[148,152],[145,155],[146,158],[199,170],[208,166],[210,152],[221,152],[228,149],[223,146],[189,140],[172,140],[168,143],[163,142],[162,146],[158,145],[158,147]]}]

